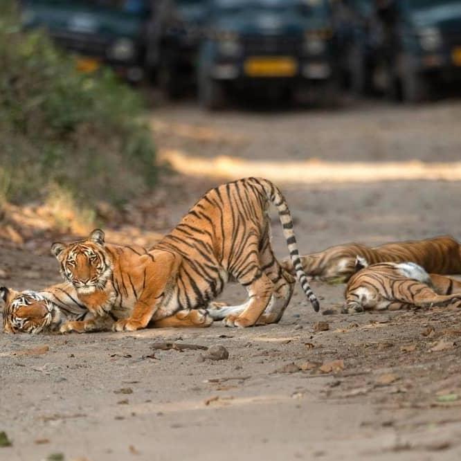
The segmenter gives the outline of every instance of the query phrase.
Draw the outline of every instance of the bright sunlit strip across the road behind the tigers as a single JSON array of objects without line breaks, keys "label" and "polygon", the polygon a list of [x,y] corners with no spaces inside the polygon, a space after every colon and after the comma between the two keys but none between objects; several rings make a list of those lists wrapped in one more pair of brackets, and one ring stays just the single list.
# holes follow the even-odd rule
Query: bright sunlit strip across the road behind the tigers
[{"label": "bright sunlit strip across the road behind the tigers", "polygon": [[376,181],[461,180],[461,162],[424,163],[418,160],[390,162],[330,162],[248,160],[233,156],[213,159],[191,156],[180,150],[159,155],[174,170],[199,177],[238,179],[255,176],[279,183],[370,183]]}]

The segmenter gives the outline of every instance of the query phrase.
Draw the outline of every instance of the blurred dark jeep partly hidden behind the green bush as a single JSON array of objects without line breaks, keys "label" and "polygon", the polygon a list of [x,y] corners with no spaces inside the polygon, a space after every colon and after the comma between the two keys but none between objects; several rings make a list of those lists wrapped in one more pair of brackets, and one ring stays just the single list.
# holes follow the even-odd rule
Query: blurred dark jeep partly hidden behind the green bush
[{"label": "blurred dark jeep partly hidden behind the green bush", "polygon": [[109,64],[131,82],[156,65],[147,0],[23,0],[24,28],[43,27],[57,44],[79,55],[81,71]]}]

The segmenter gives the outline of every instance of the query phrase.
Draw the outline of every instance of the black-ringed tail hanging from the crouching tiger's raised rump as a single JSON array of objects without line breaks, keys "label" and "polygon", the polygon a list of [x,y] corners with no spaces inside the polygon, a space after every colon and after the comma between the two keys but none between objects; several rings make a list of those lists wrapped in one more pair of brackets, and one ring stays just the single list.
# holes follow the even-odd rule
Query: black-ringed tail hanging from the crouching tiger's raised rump
[{"label": "black-ringed tail hanging from the crouching tiger's raised rump", "polygon": [[293,229],[293,219],[291,219],[291,213],[288,208],[287,201],[283,197],[282,192],[280,192],[280,190],[278,190],[271,181],[268,181],[267,179],[257,179],[257,181],[263,186],[267,198],[273,203],[275,208],[277,208],[278,217],[280,219],[280,223],[282,224],[283,235],[287,241],[288,251],[291,263],[293,264],[294,271],[296,273],[296,278],[298,279],[298,282],[300,282],[302,291],[305,292],[309,302],[312,307],[314,307],[314,311],[318,312],[320,304],[314,291],[312,291],[307,280],[306,273],[302,268],[298,245],[296,244],[296,237]]}]

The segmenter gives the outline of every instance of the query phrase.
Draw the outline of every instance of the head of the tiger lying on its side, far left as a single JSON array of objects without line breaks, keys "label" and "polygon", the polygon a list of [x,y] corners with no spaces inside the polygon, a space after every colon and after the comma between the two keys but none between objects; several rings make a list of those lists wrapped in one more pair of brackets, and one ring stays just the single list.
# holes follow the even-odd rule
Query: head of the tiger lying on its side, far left
[{"label": "head of the tiger lying on its side, far left", "polygon": [[41,333],[60,324],[60,310],[36,291],[0,288],[3,307],[3,332]]}]

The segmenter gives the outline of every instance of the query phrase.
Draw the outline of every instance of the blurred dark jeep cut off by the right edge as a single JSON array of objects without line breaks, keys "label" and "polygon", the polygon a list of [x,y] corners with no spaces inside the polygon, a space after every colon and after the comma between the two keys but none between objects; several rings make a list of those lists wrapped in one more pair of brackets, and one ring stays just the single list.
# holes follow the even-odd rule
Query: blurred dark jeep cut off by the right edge
[{"label": "blurred dark jeep cut off by the right edge", "polygon": [[459,0],[400,0],[377,6],[383,39],[375,75],[383,78],[374,80],[386,93],[418,102],[437,88],[460,84]]}]

